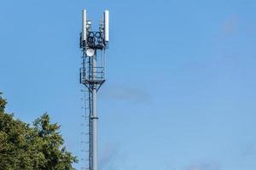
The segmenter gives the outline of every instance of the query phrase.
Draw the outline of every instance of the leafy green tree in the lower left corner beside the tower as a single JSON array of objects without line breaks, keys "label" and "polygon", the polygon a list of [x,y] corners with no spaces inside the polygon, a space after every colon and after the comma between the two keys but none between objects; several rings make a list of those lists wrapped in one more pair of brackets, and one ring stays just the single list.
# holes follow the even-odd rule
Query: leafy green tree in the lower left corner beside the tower
[{"label": "leafy green tree in the lower left corner beside the tower", "polygon": [[0,170],[71,170],[77,157],[66,150],[60,126],[44,114],[30,126],[4,111],[0,93]]}]

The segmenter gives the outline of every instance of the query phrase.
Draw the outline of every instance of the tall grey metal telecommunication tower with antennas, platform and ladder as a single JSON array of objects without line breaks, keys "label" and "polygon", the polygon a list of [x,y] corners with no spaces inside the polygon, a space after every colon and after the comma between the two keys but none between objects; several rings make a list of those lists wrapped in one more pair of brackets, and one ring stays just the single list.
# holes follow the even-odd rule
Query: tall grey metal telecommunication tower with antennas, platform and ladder
[{"label": "tall grey metal telecommunication tower with antennas, platform and ladder", "polygon": [[[80,48],[82,50],[82,67],[80,68],[80,83],[84,85],[84,110],[83,116],[87,133],[88,166],[82,169],[98,170],[97,150],[97,123],[96,111],[97,91],[105,82],[105,50],[109,41],[109,12],[105,10],[100,21],[99,30],[92,31],[91,20],[88,20],[87,12],[82,10],[82,32],[80,34]],[[85,131],[86,129],[84,129]],[[83,132],[84,132],[83,131]],[[85,144],[85,142],[82,142]],[[86,149],[85,149],[86,150]],[[82,150],[83,151],[83,150]],[[84,160],[85,161],[85,160]]]}]

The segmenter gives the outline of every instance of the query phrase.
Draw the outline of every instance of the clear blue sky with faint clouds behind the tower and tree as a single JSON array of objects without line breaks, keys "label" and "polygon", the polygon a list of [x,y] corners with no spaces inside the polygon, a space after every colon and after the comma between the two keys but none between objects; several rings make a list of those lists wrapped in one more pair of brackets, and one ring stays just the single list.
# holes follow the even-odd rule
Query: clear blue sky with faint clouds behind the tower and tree
[{"label": "clear blue sky with faint clouds behind the tower and tree", "polygon": [[32,122],[48,111],[67,149],[81,155],[82,8],[95,28],[110,11],[101,170],[256,168],[253,0],[1,1],[9,112]]}]

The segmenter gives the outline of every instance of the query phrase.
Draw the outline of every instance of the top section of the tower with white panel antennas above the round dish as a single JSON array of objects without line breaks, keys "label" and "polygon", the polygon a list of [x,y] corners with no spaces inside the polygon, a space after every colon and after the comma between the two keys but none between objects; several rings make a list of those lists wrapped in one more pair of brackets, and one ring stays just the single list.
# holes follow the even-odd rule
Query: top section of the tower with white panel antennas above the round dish
[{"label": "top section of the tower with white panel antennas above the round dish", "polygon": [[80,48],[103,49],[108,48],[109,41],[109,11],[105,10],[100,21],[98,31],[92,31],[92,22],[88,19],[87,11],[82,10],[82,32]]}]

